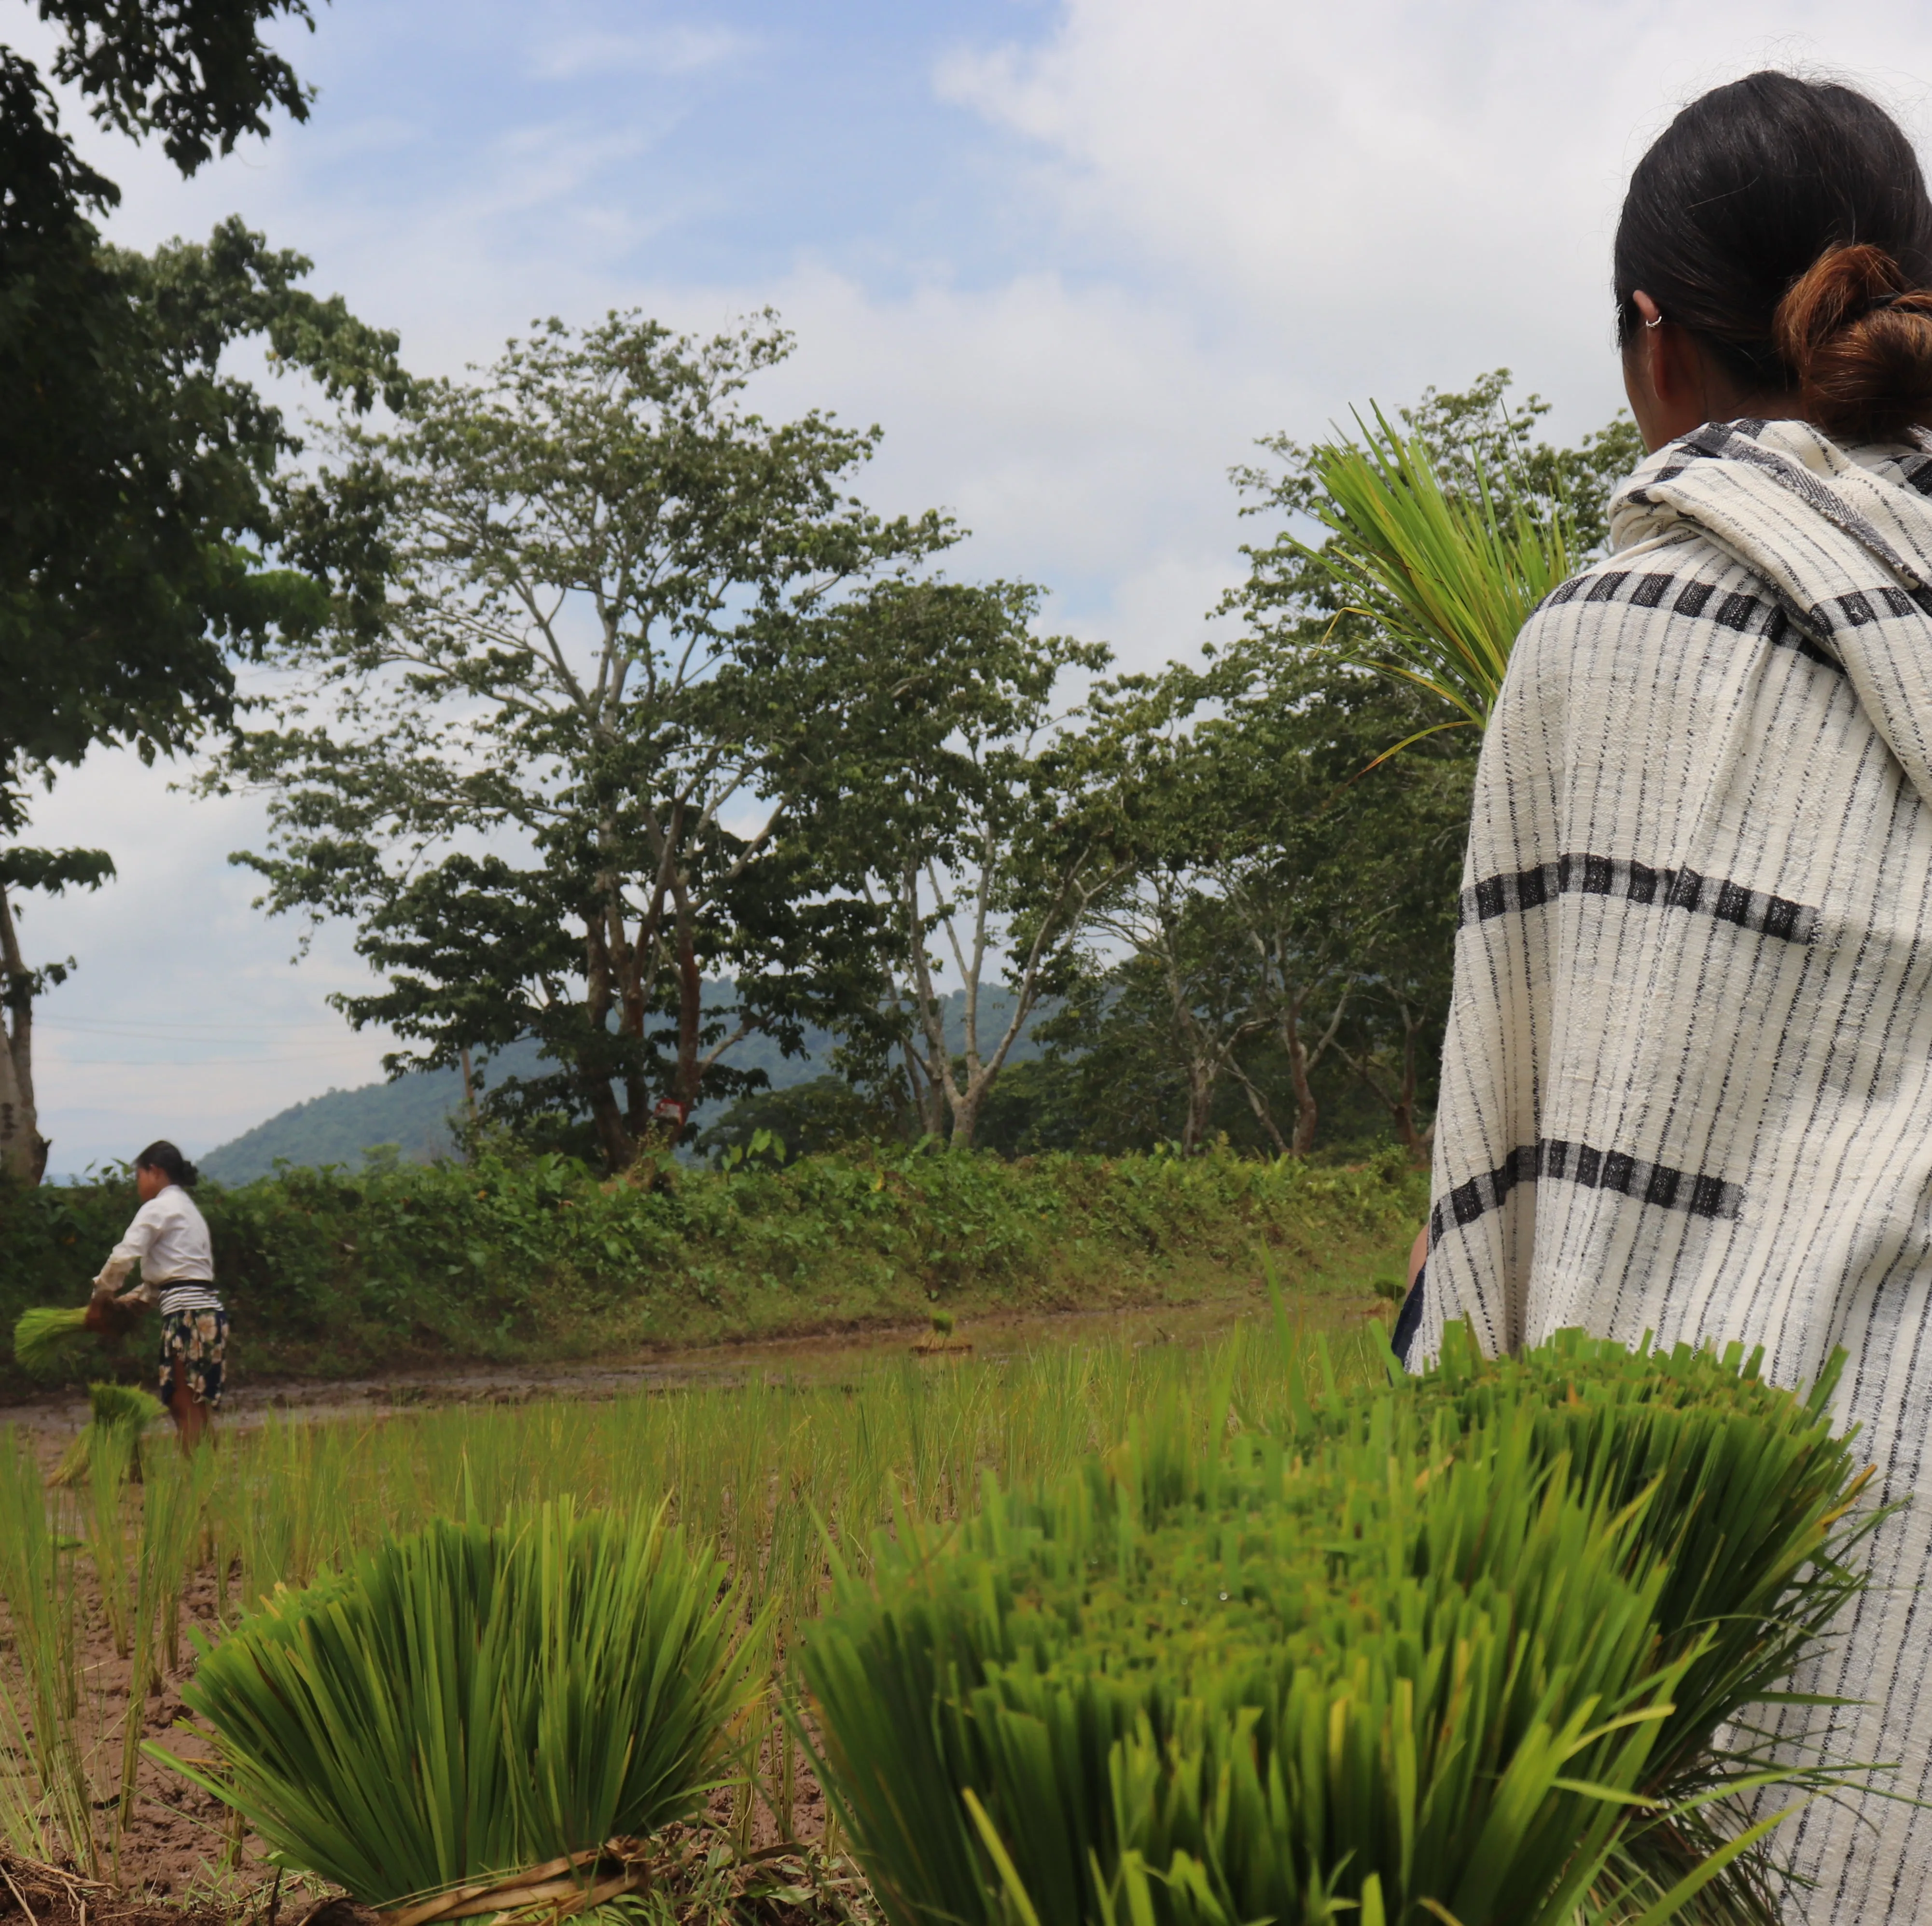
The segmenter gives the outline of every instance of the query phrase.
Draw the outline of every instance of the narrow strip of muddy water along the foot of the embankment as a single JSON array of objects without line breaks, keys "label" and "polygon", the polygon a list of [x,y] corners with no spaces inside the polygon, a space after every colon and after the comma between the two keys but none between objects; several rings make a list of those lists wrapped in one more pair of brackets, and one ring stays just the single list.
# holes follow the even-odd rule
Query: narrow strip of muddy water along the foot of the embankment
[{"label": "narrow strip of muddy water along the foot of the embankment", "polygon": [[[1358,1323],[1387,1310],[1383,1300],[1358,1292],[1314,1292],[1300,1300],[1300,1316],[1321,1329]],[[958,1348],[952,1356],[987,1362],[1028,1350],[1095,1343],[1192,1346],[1246,1317],[1265,1316],[1271,1316],[1269,1304],[1260,1294],[1128,1310],[989,1314],[958,1321],[952,1333]],[[249,1430],[270,1416],[321,1420],[413,1410],[425,1404],[522,1404],[543,1397],[607,1399],[697,1385],[846,1383],[866,1372],[896,1368],[929,1335],[923,1325],[896,1325],[881,1331],[707,1345],[626,1364],[489,1364],[421,1377],[352,1377],[313,1385],[242,1383],[222,1399],[220,1426]],[[947,1358],[929,1358],[927,1364],[945,1370]],[[29,1404],[0,1408],[0,1422],[43,1433],[71,1433],[87,1422],[87,1399],[79,1395],[35,1399]]]}]

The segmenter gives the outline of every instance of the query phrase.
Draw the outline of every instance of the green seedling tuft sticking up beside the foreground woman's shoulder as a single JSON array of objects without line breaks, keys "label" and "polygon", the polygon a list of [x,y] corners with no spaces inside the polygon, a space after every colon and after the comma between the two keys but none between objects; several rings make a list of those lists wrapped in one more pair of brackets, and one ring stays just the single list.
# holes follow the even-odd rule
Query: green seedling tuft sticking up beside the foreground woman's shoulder
[{"label": "green seedling tuft sticking up beside the foreground woman's shoulder", "polygon": [[[1505,508],[1480,467],[1472,496],[1449,493],[1420,437],[1403,437],[1381,410],[1314,450],[1327,527],[1320,549],[1294,547],[1366,616],[1364,666],[1410,682],[1457,713],[1455,728],[1484,728],[1509,651],[1530,610],[1571,572],[1575,539],[1561,502],[1538,518]],[[1414,740],[1414,738],[1410,738]]]}]

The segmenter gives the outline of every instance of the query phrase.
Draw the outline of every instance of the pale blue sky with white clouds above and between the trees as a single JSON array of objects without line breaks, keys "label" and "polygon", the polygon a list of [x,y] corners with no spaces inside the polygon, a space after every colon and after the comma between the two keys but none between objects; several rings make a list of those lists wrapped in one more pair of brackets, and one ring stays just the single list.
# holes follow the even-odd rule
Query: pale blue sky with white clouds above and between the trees
[{"label": "pale blue sky with white clouds above and between the trees", "polygon": [[[25,0],[0,39],[48,44]],[[313,118],[189,184],[87,133],[118,240],[240,211],[437,373],[541,315],[773,303],[767,411],[881,423],[881,508],[952,510],[956,572],[1136,665],[1238,576],[1258,435],[1497,365],[1559,435],[1609,417],[1609,234],[1681,102],[1797,66],[1922,139],[1932,83],[1895,0],[334,0],[286,39]],[[37,1053],[54,1171],[381,1074],[325,1001],[365,981],[346,933],[292,964],[226,864],[259,809],[178,779],[100,755],[39,809],[120,864],[27,920],[79,958]]]}]

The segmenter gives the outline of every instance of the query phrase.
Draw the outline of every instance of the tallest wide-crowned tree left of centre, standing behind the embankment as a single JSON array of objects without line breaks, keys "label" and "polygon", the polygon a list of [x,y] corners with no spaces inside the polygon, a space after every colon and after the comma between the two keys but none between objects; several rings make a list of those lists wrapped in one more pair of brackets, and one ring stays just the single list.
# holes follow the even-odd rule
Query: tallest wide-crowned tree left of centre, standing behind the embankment
[{"label": "tallest wide-crowned tree left of centre, standing behind the embankment", "polygon": [[495,1103],[585,1115],[612,1171],[661,1105],[744,1088],[753,1030],[879,1006],[819,821],[850,705],[827,610],[951,529],[842,493],[877,429],[742,406],[788,348],[771,315],[551,323],[390,431],[344,421],[288,493],[328,616],[216,775],[272,792],[269,908],[359,925],[388,987],[338,1001],[415,1045],[390,1066],[537,1037],[556,1072]]}]

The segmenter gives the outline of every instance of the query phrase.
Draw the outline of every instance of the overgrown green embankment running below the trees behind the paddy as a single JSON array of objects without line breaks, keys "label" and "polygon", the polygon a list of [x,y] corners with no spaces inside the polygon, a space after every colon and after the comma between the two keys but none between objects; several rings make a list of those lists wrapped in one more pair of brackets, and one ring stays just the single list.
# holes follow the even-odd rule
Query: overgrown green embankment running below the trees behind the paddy
[{"label": "overgrown green embankment running below the trees behind the paddy", "polygon": [[[1012,1310],[1179,1304],[1285,1281],[1399,1279],[1426,1178],[1399,1159],[1003,1161],[951,1151],[653,1169],[562,1157],[284,1171],[199,1202],[245,1375],[611,1358]],[[133,1215],[131,1184],[0,1194],[0,1317],[75,1304]],[[128,1341],[126,1372],[147,1354]],[[100,1375],[99,1352],[77,1370]],[[8,1360],[0,1393],[25,1391]]]}]

